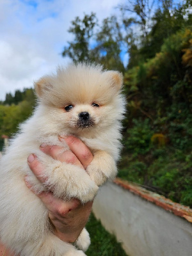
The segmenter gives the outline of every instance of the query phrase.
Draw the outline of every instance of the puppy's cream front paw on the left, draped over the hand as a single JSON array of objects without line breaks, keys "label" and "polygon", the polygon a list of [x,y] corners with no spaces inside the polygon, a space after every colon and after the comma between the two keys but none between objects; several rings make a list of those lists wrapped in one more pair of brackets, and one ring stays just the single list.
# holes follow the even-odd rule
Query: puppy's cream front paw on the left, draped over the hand
[{"label": "puppy's cream front paw on the left, draped over the hand", "polygon": [[93,200],[99,189],[83,169],[67,163],[52,170],[45,186],[57,197],[78,198],[83,203]]}]

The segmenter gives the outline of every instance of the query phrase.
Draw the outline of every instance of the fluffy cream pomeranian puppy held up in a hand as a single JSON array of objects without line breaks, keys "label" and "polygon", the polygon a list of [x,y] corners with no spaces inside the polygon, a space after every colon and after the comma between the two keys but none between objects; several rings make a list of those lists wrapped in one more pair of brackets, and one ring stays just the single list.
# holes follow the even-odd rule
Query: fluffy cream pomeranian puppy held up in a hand
[{"label": "fluffy cream pomeranian puppy held up in a hand", "polygon": [[[20,126],[0,165],[0,238],[20,256],[83,256],[90,244],[84,228],[76,246],[54,236],[47,209],[30,191],[24,177],[36,193],[51,189],[54,196],[82,203],[93,200],[100,185],[116,175],[120,153],[121,120],[125,100],[122,74],[102,70],[102,66],[78,63],[59,68],[57,74],[35,83],[38,106]],[[61,163],[40,150],[42,143],[67,145],[59,136],[73,135],[90,148],[93,161],[86,172],[78,166]],[[45,184],[29,169],[29,154],[44,164]]]}]

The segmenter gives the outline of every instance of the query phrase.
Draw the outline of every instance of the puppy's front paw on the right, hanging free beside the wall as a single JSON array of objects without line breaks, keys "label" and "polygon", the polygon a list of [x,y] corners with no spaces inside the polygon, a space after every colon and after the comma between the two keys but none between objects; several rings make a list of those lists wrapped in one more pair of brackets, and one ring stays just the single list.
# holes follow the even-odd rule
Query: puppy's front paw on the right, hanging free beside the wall
[{"label": "puppy's front paw on the right, hanging free beside the wall", "polygon": [[107,179],[115,178],[117,172],[115,160],[108,153],[100,150],[94,154],[86,172],[97,186],[101,186]]}]

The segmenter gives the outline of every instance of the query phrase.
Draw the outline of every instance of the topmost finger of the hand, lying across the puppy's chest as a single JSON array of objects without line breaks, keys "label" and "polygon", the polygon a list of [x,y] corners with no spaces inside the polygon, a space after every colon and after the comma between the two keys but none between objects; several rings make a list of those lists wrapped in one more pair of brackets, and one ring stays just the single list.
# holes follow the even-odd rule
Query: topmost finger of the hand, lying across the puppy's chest
[{"label": "topmost finger of the hand, lying across the puppy's chest", "polygon": [[70,150],[75,154],[81,164],[83,164],[83,167],[86,169],[86,167],[92,162],[93,155],[83,141],[74,136],[60,137],[59,139],[60,141],[65,141],[65,143],[67,143]]}]

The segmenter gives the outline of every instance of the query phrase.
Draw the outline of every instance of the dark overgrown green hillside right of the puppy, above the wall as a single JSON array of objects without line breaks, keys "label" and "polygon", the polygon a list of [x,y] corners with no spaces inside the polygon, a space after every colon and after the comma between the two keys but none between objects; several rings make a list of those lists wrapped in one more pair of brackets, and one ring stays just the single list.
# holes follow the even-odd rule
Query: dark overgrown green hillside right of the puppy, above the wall
[{"label": "dark overgrown green hillside right of the puppy, above the wall", "polygon": [[154,58],[125,72],[127,120],[119,176],[191,206],[192,32],[164,40]]}]

